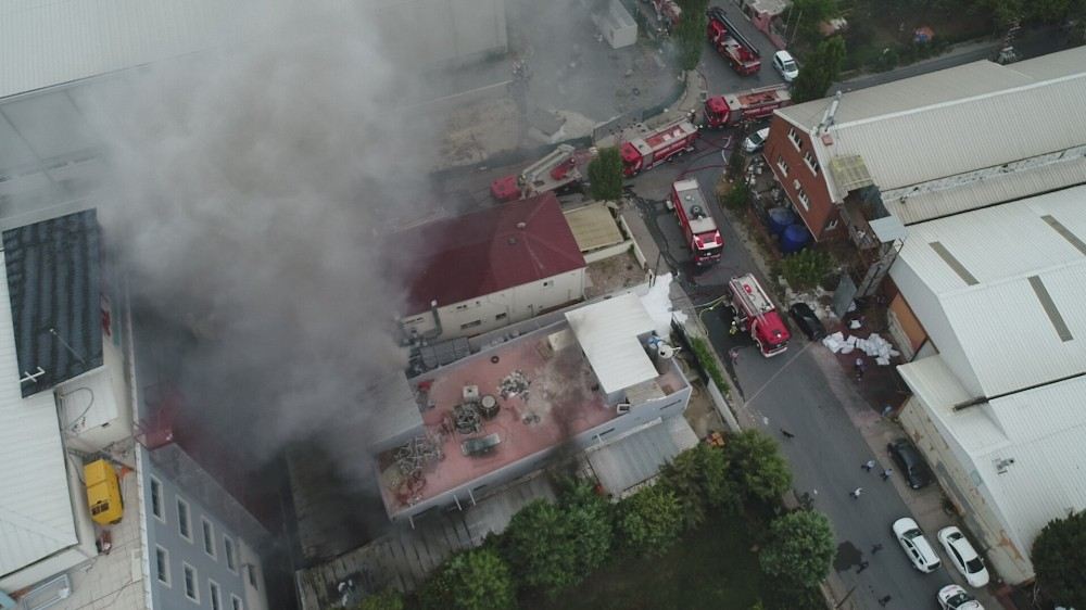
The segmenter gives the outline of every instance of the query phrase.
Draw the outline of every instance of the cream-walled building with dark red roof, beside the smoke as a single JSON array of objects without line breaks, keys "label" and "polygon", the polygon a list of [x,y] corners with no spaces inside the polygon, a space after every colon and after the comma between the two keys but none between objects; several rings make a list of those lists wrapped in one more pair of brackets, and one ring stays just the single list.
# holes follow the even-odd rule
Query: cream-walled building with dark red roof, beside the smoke
[{"label": "cream-walled building with dark red roof, beside the smoke", "polygon": [[471,336],[584,298],[585,263],[554,193],[405,231],[424,253],[408,287],[409,340]]}]

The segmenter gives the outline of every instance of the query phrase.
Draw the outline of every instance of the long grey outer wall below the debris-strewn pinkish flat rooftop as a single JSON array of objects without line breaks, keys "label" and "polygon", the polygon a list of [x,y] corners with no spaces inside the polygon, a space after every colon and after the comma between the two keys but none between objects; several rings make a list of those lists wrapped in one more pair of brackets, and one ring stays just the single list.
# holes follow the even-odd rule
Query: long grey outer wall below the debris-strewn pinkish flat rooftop
[{"label": "long grey outer wall below the debris-strewn pinkish flat rooftop", "polygon": [[[675,365],[672,363],[672,366]],[[674,370],[682,376],[678,366],[675,366]],[[685,378],[683,379],[685,380]],[[407,521],[409,518],[417,519],[421,516],[421,513],[430,510],[455,507],[457,501],[459,501],[460,506],[470,506],[472,504],[472,496],[478,498],[490,488],[496,487],[513,481],[514,479],[523,476],[529,472],[543,468],[547,460],[553,458],[559,452],[581,452],[593,445],[605,444],[611,439],[620,436],[623,432],[648,423],[653,420],[681,416],[686,409],[686,405],[690,403],[690,395],[691,386],[690,383],[686,383],[683,389],[677,391],[670,396],[658,398],[656,401],[648,401],[642,405],[637,405],[626,415],[619,416],[610,421],[604,422],[591,430],[586,430],[577,436],[573,436],[569,440],[567,445],[551,447],[527,456],[519,461],[490,472],[469,483],[460,485],[459,487],[450,490],[444,494],[434,496],[429,500],[404,509],[403,511],[392,516],[392,520]]]}]

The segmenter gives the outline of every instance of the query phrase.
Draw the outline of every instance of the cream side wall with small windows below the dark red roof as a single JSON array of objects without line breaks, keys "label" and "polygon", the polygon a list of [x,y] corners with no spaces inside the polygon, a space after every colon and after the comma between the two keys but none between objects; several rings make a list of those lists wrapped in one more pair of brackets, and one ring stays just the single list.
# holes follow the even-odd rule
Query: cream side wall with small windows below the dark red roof
[{"label": "cream side wall with small windows below the dark red roof", "polygon": [[[542,312],[584,300],[584,268],[438,307],[442,332],[434,341],[473,336],[534,318]],[[403,319],[404,329],[425,334],[434,329],[433,316],[422,313]]]}]

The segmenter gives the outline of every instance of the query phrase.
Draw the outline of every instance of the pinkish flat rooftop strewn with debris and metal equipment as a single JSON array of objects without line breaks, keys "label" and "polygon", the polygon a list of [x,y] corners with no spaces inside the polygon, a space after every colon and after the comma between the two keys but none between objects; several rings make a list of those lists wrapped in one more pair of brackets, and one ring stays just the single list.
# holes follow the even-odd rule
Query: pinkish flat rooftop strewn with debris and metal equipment
[{"label": "pinkish flat rooftop strewn with debris and metal equipment", "polygon": [[[381,495],[390,514],[618,417],[565,321],[484,350],[412,383],[425,406],[427,441],[413,452],[400,446],[377,456]],[[672,368],[648,383],[658,389],[657,395],[670,395],[685,386]],[[497,411],[490,418],[480,417],[475,428],[458,427],[457,410],[466,402],[465,387],[471,386],[478,387],[480,402],[492,396]],[[465,455],[465,442],[487,439],[497,443]],[[408,453],[412,457],[405,458]]]}]

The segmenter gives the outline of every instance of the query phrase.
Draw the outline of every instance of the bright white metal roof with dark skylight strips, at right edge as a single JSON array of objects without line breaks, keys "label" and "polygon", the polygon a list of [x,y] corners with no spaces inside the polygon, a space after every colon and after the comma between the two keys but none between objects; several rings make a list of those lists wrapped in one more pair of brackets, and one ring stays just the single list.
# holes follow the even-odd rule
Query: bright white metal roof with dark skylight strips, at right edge
[{"label": "bright white metal roof with dark skylight strips, at right edge", "polygon": [[912,225],[891,275],[984,396],[1086,370],[1086,187]]}]

